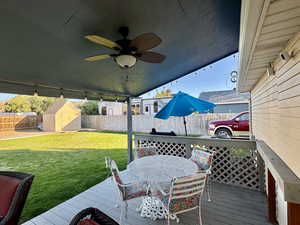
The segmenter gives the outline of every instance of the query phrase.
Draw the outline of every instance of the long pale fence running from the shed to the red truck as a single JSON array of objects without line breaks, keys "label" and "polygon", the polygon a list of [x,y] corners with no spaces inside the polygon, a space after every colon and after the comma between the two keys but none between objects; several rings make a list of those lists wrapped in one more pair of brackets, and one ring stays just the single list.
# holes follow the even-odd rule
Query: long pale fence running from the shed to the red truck
[{"label": "long pale fence running from the shed to the red truck", "polygon": [[[194,114],[186,117],[188,134],[207,135],[208,123],[212,120],[231,119],[235,114]],[[82,128],[92,128],[106,131],[127,131],[127,116],[82,116]],[[158,132],[174,131],[184,134],[182,117],[170,117],[167,120],[155,119],[147,115],[133,116],[133,131],[149,133],[155,128]]]}]

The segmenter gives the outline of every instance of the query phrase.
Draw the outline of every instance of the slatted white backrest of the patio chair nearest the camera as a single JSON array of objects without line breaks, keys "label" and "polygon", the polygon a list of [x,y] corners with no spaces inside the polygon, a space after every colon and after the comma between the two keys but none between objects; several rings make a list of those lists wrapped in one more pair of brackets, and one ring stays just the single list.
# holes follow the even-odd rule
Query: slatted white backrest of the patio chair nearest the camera
[{"label": "slatted white backrest of the patio chair nearest the camera", "polygon": [[178,214],[199,207],[206,176],[205,172],[201,172],[172,180],[168,204],[171,214]]}]

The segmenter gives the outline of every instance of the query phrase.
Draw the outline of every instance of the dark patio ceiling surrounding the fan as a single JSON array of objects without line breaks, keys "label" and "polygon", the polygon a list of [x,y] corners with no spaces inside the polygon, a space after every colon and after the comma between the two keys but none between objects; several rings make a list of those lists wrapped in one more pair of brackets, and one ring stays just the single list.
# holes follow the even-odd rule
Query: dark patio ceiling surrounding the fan
[{"label": "dark patio ceiling surrounding the fan", "polygon": [[[238,50],[240,0],[4,0],[0,2],[0,91],[68,98],[138,96]],[[161,64],[139,61],[120,69],[112,53],[83,38],[111,40],[128,26],[129,38],[153,32]]]}]

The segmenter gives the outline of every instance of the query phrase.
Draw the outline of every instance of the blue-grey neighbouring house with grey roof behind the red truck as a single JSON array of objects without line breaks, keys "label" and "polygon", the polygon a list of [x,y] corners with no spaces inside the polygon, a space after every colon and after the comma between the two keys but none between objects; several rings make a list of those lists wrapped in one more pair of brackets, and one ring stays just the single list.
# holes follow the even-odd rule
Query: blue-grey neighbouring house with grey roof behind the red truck
[{"label": "blue-grey neighbouring house with grey roof behind the red truck", "polygon": [[240,94],[235,89],[201,92],[199,98],[216,104],[211,113],[240,113],[249,110],[249,94]]}]

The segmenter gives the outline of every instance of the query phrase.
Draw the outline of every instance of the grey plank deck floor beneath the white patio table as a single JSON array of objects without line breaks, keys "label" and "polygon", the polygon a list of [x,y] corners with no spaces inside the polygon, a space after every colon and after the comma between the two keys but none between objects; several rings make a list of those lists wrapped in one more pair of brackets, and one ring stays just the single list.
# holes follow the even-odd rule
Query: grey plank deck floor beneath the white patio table
[{"label": "grey plank deck floor beneath the white patio table", "polygon": [[[122,175],[130,180],[126,171]],[[27,221],[23,225],[68,225],[75,214],[87,207],[96,207],[118,221],[120,208],[115,207],[117,192],[111,179],[107,179],[49,211]],[[257,191],[242,189],[225,184],[214,183],[212,202],[203,197],[202,218],[203,225],[270,225],[267,221],[265,196]],[[166,220],[152,221],[142,218],[136,212],[141,199],[130,200],[126,225],[163,225]],[[198,223],[197,210],[181,215],[180,223],[172,224],[192,225]]]}]

